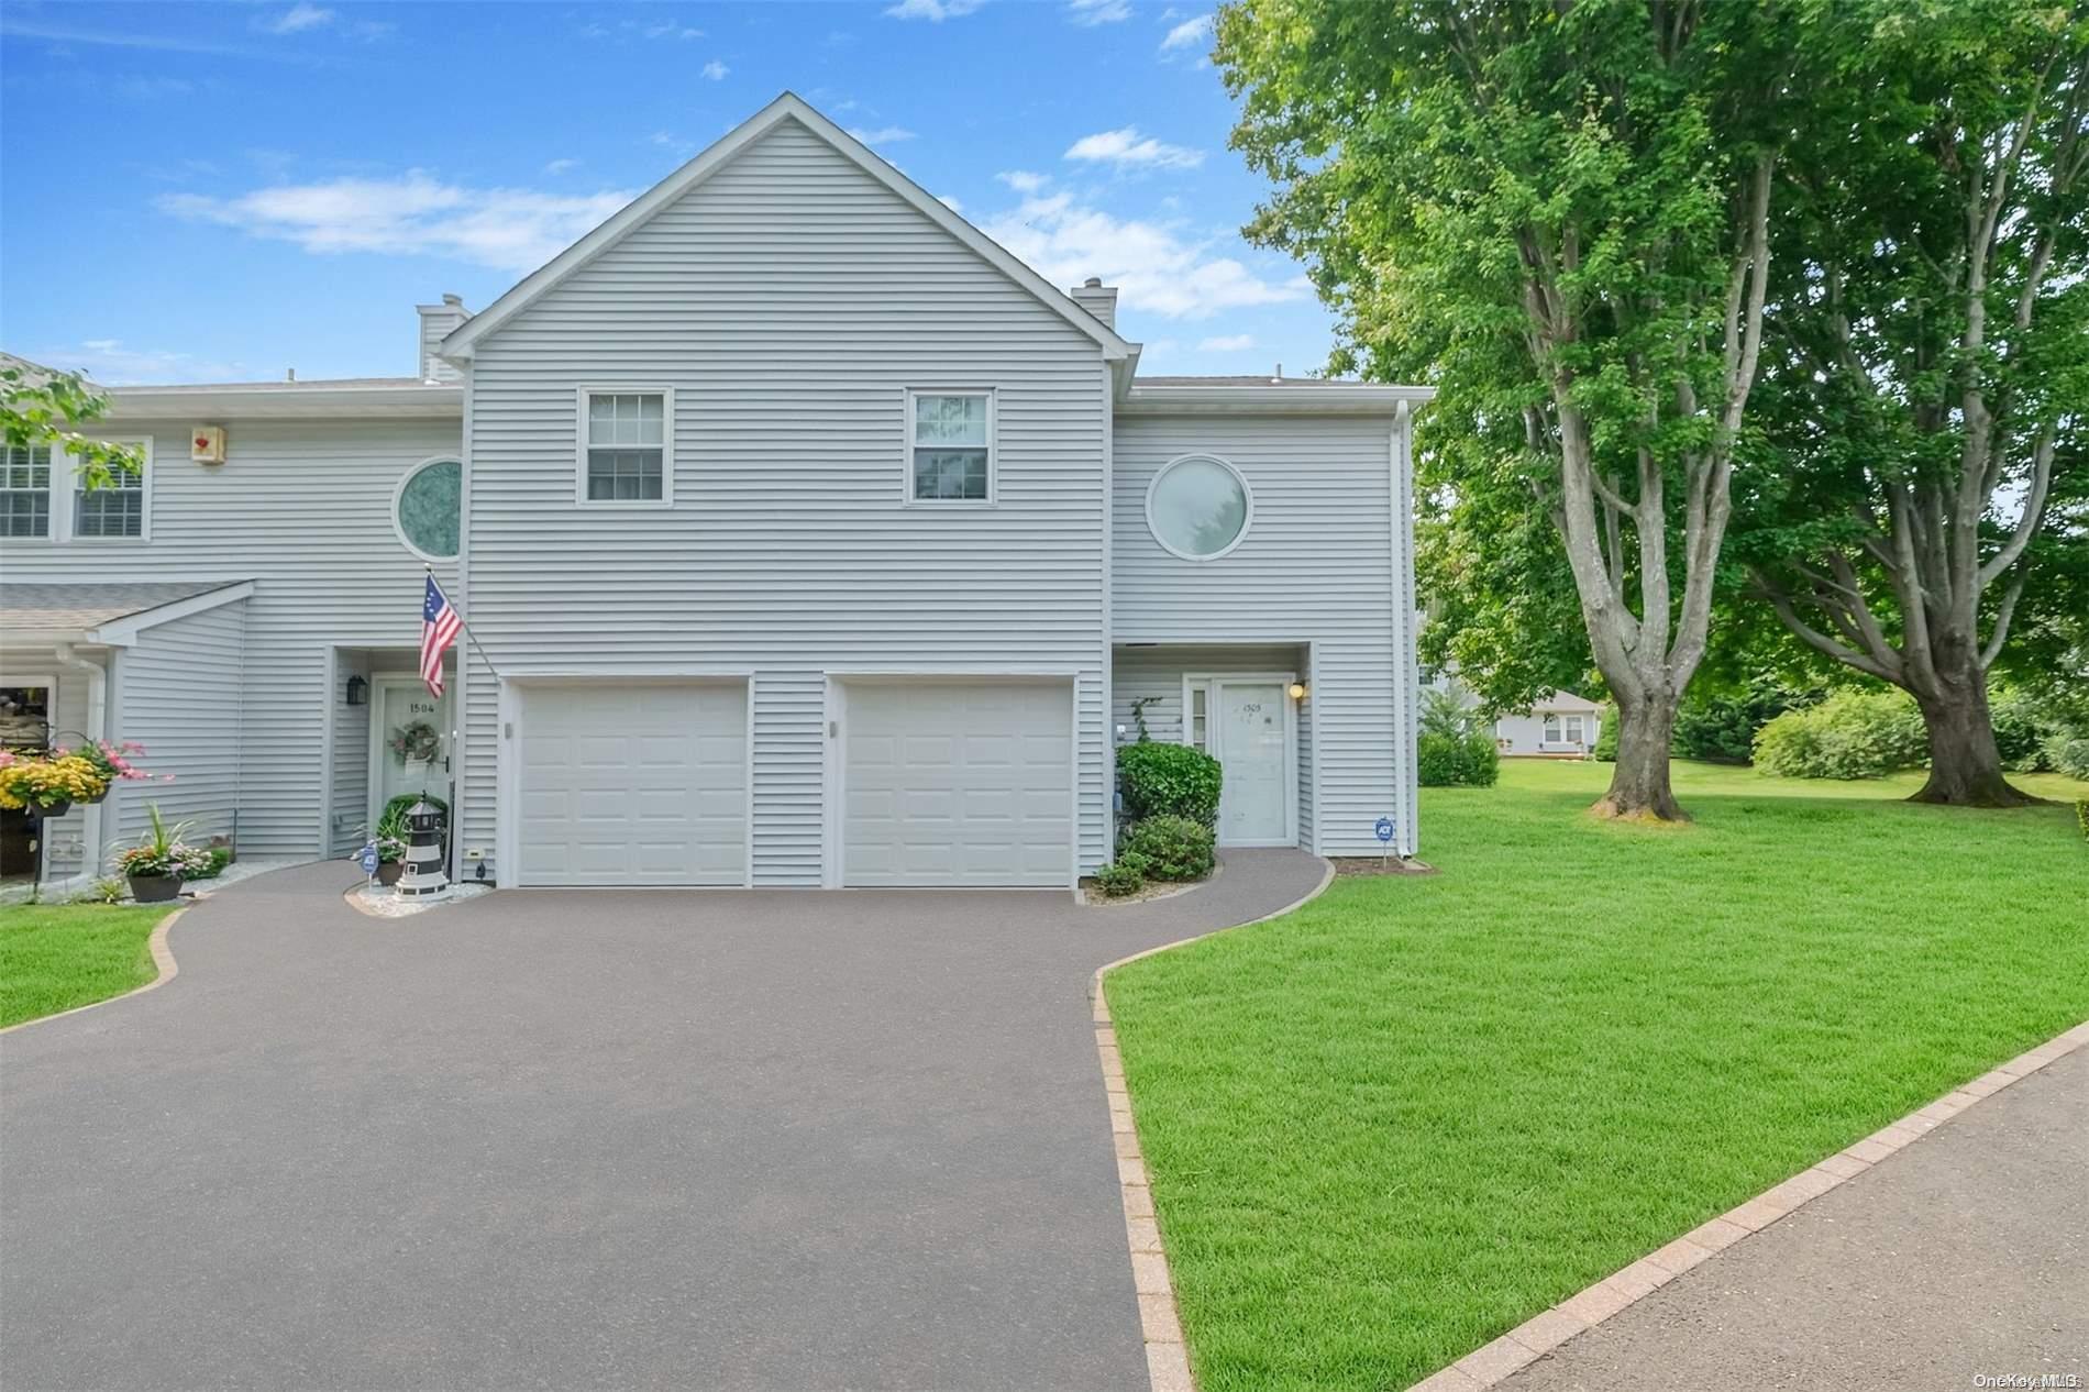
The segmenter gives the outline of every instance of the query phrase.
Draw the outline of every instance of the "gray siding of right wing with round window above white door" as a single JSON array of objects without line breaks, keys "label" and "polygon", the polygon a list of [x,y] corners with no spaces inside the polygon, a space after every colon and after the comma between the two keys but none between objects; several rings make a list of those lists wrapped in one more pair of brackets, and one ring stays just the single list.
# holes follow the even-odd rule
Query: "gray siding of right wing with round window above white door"
[{"label": "gray siding of right wing with round window above white door", "polygon": [[[1395,631],[1406,581],[1393,420],[1356,416],[1130,416],[1116,426],[1111,625],[1118,644],[1310,644],[1299,761],[1301,834],[1324,855],[1377,855],[1372,826],[1414,834],[1410,667]],[[1214,562],[1170,556],[1147,529],[1147,485],[1176,456],[1216,454],[1255,495],[1249,535]],[[1118,681],[1122,688],[1124,667]],[[1126,704],[1124,692],[1116,702]],[[1151,717],[1149,717],[1151,719]],[[1308,757],[1310,755],[1310,757]]]}]

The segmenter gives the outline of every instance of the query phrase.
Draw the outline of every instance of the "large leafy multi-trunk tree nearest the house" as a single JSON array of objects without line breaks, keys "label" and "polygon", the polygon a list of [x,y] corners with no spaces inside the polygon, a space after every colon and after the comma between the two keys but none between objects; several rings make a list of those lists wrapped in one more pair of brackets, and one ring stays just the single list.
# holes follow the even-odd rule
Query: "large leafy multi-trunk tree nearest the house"
[{"label": "large leafy multi-trunk tree nearest the house", "polygon": [[1341,318],[1337,368],[1439,395],[1452,510],[1540,518],[1619,706],[1598,811],[1682,817],[1675,706],[1705,656],[1761,351],[1784,6],[1239,0],[1249,226]]}]

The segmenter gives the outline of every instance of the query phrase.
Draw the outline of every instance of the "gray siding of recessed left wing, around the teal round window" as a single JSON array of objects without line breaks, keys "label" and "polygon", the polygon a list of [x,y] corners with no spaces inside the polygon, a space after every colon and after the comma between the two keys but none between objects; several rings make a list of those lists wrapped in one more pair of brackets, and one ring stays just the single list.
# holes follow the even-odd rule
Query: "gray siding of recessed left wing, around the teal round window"
[{"label": "gray siding of recessed left wing, around the teal round window", "polygon": [[[455,458],[462,431],[455,420],[230,418],[228,462],[205,468],[188,462],[190,424],[121,426],[123,437],[155,441],[150,541],[10,539],[4,579],[255,581],[244,619],[240,853],[318,855],[332,846],[326,755],[343,709],[330,650],[420,644],[422,562],[393,529],[393,491],[422,460]],[[451,569],[437,575],[447,583]],[[63,698],[75,688],[84,694],[86,677],[65,675]],[[125,732],[113,725],[111,736]]]}]

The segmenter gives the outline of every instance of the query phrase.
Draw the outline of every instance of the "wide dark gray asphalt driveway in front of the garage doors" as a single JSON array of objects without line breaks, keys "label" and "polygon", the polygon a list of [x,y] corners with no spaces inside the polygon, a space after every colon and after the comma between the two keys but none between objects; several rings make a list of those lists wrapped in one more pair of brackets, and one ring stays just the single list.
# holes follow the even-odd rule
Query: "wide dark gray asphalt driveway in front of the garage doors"
[{"label": "wide dark gray asphalt driveway in front of the garage doors", "polygon": [[1320,874],[232,886],[165,989],[0,1039],[0,1384],[1141,1388],[1088,976]]}]

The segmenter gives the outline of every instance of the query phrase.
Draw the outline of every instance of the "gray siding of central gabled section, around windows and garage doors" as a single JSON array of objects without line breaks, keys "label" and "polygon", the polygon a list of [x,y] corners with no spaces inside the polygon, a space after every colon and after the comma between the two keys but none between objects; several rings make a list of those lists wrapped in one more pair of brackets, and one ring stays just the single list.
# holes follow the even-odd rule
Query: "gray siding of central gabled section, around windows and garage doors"
[{"label": "gray siding of central gabled section, around windows and garage doors", "polygon": [[[1076,675],[1107,855],[1099,347],[794,121],[476,345],[468,617],[503,675],[754,679],[756,884],[819,884],[825,673]],[[673,387],[673,508],[577,493],[583,387]],[[999,506],[907,506],[905,393],[994,389]],[[464,844],[497,683],[466,671]]]}]

